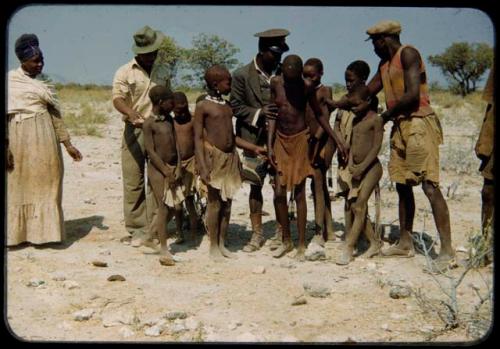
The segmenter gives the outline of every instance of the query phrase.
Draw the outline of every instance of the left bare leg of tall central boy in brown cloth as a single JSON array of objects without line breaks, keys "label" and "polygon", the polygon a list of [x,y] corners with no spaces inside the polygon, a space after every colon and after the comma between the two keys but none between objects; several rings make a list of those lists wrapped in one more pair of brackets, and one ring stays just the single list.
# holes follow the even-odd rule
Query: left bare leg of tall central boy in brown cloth
[{"label": "left bare leg of tall central boy in brown cloth", "polygon": [[290,222],[288,221],[286,187],[280,184],[279,176],[276,176],[276,185],[274,187],[274,209],[276,211],[276,219],[282,230],[282,242],[274,251],[273,257],[280,258],[293,250],[293,243],[290,234]]}]

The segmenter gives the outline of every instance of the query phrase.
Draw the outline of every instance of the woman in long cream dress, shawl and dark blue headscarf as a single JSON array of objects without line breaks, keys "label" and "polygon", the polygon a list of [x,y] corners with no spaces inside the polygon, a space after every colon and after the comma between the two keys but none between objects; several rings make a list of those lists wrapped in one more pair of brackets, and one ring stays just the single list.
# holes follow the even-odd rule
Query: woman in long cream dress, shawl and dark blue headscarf
[{"label": "woman in long cream dress, shawl and dark blue headscarf", "polygon": [[60,143],[75,161],[82,155],[70,142],[53,86],[37,79],[44,65],[38,38],[23,34],[15,46],[21,66],[8,73],[7,246],[60,242]]}]

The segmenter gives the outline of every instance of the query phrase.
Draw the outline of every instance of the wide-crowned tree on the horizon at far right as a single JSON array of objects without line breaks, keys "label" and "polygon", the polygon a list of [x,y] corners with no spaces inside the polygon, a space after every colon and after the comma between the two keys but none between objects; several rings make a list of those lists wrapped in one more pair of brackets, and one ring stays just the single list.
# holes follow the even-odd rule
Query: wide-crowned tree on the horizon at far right
[{"label": "wide-crowned tree on the horizon at far right", "polygon": [[451,89],[465,96],[476,90],[481,76],[491,68],[493,49],[485,43],[456,42],[428,59],[451,82]]}]

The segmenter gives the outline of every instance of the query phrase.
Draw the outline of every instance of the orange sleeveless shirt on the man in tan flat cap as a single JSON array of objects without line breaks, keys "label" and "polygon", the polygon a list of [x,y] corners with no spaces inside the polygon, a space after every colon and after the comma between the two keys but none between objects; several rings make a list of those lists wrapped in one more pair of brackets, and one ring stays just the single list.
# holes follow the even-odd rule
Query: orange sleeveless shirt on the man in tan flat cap
[{"label": "orange sleeveless shirt on the man in tan flat cap", "polygon": [[[415,49],[413,46],[402,45],[390,61],[387,61],[380,66],[380,76],[382,77],[382,85],[384,86],[385,103],[388,109],[394,107],[394,105],[401,100],[401,97],[403,97],[406,92],[403,64],[401,63],[401,52],[405,47],[412,47]],[[425,65],[422,59],[420,59],[420,74],[421,76],[422,74],[425,74]],[[424,79],[421,79],[420,81],[420,101],[418,109],[410,110],[408,113],[405,113],[405,115],[427,116],[434,113],[430,105],[427,79],[425,79],[425,81],[422,80]]]}]

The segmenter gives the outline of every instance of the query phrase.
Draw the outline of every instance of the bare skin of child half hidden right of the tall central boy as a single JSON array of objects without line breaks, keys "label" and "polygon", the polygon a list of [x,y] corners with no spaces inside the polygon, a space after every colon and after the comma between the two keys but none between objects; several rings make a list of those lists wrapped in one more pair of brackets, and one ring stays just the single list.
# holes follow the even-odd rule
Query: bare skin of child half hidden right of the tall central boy
[{"label": "bare skin of child half hidden right of the tall central boy", "polygon": [[[318,88],[318,86],[321,84],[321,77],[323,76],[322,70],[318,70],[318,68],[314,65],[306,64],[304,65],[304,71],[302,75],[304,79],[309,80],[310,84],[315,89],[316,99],[319,101],[319,103],[325,103],[326,99],[331,98],[331,88],[327,86],[321,86]],[[318,125],[314,116],[314,112],[312,111],[310,106],[308,106],[308,108],[306,109],[306,120],[313,137],[318,140],[322,140],[322,142],[317,142],[318,146],[316,147],[316,149],[311,147],[311,150],[315,155],[311,155],[310,157],[314,159],[314,177],[311,182],[311,191],[313,193],[314,199],[314,213],[316,222],[315,238],[319,239],[320,245],[323,245],[326,240],[335,240],[335,234],[333,229],[330,195],[328,193],[328,187],[326,183],[326,172],[328,168],[319,166],[318,163],[323,161],[326,164],[331,163],[333,154],[335,153],[336,149],[334,148],[331,154],[325,154],[325,156],[327,156],[328,158],[325,158],[324,160],[319,159],[319,153],[326,144],[326,140],[324,138],[325,136],[328,136],[325,134],[323,128]],[[330,120],[328,120],[328,122],[330,122]]]}]

